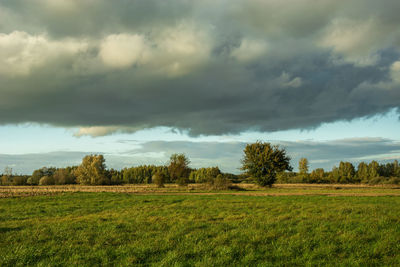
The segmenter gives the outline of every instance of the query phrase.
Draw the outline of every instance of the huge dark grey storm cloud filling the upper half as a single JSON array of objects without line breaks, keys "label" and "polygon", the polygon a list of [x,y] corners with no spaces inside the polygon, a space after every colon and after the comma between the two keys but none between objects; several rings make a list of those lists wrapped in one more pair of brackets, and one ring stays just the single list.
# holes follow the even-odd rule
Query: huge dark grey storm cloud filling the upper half
[{"label": "huge dark grey storm cloud filling the upper half", "polygon": [[399,9],[389,0],[2,1],[0,124],[198,135],[384,113],[400,105]]}]

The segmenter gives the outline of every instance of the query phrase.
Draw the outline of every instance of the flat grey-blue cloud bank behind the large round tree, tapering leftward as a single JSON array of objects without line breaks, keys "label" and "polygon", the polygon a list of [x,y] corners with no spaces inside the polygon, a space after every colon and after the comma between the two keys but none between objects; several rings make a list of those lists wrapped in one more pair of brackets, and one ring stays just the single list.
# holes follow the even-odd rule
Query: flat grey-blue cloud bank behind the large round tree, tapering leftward
[{"label": "flat grey-blue cloud bank behind the large round tree, tapering leftward", "polygon": [[[287,150],[295,170],[302,157],[309,159],[312,169],[322,167],[327,170],[334,165],[338,166],[340,161],[358,164],[360,161],[385,162],[400,159],[400,143],[383,138],[354,138],[327,142],[274,141],[272,143]],[[243,142],[152,141],[144,143],[141,149],[127,152],[127,154],[163,151],[165,156],[169,156],[172,153],[182,152],[188,155],[194,167],[219,166],[225,171],[238,173],[245,146],[246,143]]]}]

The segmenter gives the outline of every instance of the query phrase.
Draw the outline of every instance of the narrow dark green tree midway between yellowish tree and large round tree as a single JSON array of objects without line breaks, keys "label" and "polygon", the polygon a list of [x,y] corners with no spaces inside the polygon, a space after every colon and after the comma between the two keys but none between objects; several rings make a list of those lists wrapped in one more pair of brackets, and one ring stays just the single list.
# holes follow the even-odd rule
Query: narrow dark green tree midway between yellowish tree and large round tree
[{"label": "narrow dark green tree midway between yellowish tree and large round tree", "polygon": [[185,154],[172,154],[169,159],[168,172],[173,182],[185,185],[189,182],[190,160]]}]

